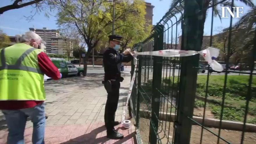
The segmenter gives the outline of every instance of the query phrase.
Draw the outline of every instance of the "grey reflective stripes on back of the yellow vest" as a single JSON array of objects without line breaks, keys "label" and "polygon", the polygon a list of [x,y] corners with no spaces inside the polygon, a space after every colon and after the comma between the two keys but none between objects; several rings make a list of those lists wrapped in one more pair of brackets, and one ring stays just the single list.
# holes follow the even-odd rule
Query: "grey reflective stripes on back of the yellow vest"
[{"label": "grey reflective stripes on back of the yellow vest", "polygon": [[2,66],[0,67],[0,70],[25,70],[28,72],[35,72],[38,74],[43,74],[40,69],[36,69],[34,67],[27,67],[27,66],[22,66],[21,63],[28,56],[32,51],[34,51],[35,48],[30,48],[26,50],[17,60],[15,65],[6,65],[5,62],[5,57],[4,57],[4,49],[1,50],[1,63]]}]

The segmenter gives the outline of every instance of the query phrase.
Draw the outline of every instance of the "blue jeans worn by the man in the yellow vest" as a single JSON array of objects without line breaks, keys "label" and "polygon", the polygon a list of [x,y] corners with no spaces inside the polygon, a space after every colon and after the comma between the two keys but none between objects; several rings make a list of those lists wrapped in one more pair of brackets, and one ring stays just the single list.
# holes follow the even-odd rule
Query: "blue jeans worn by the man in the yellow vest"
[{"label": "blue jeans worn by the man in the yellow vest", "polygon": [[45,137],[45,104],[33,108],[18,110],[2,110],[8,126],[8,144],[24,144],[24,130],[28,117],[33,122],[33,144],[44,144]]}]

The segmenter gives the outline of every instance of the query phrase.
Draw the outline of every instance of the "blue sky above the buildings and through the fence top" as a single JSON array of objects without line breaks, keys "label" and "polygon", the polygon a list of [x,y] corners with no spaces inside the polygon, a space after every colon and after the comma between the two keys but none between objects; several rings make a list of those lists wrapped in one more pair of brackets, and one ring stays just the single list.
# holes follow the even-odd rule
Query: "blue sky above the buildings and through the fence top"
[{"label": "blue sky above the buildings and through the fence top", "polygon": [[[171,0],[145,0],[146,2],[152,3],[154,7],[153,9],[153,24],[159,22],[159,20],[165,15],[168,11]],[[11,4],[13,1],[10,0],[1,0],[0,7]],[[256,0],[255,0],[256,2]],[[236,6],[244,7],[243,13],[248,11],[248,7],[245,6],[240,1],[235,3]],[[211,9],[209,9],[211,11]],[[47,29],[58,29],[56,25],[56,14],[55,11],[51,12],[49,18],[45,17],[45,13],[37,13],[33,20],[28,21],[26,17],[33,15],[35,10],[31,6],[27,6],[24,8],[9,10],[0,15],[0,29],[3,30],[9,36],[15,36],[16,34],[23,34],[26,31],[29,31],[30,27],[42,29],[46,27]],[[210,12],[209,12],[210,13]],[[234,18],[233,23],[237,22],[239,18]],[[222,22],[218,17],[214,17],[214,26],[213,33],[217,33],[217,29],[221,26],[222,28],[226,28],[229,26],[230,18],[222,18]],[[174,30],[175,31],[175,30]],[[181,34],[180,26],[178,26],[178,35]],[[205,22],[205,30],[204,35],[210,35],[211,33],[211,15],[208,15]]]}]

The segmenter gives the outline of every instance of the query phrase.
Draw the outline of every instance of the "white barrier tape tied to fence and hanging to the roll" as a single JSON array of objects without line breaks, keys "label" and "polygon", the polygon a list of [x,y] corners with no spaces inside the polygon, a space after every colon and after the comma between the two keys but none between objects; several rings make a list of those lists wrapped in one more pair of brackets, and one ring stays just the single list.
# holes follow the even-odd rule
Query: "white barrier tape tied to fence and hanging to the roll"
[{"label": "white barrier tape tied to fence and hanging to the roll", "polygon": [[[220,50],[216,49],[214,47],[208,47],[205,50],[202,51],[185,51],[185,50],[178,50],[178,49],[166,49],[166,50],[160,50],[160,51],[145,51],[145,52],[138,52],[136,55],[149,55],[149,56],[165,56],[165,57],[183,57],[183,56],[193,56],[195,54],[200,54],[203,56],[205,61],[208,62],[208,64],[211,66],[211,68],[215,71],[222,72],[223,71],[223,66],[216,61],[217,57],[219,56]],[[126,106],[128,106],[129,99],[131,97],[131,91],[132,87],[134,85],[134,80],[135,80],[135,70],[137,67],[137,58],[134,56],[134,74],[131,79],[130,83],[130,88],[128,91],[127,95],[127,100],[126,100]],[[123,109],[123,117],[122,121],[125,120],[125,113],[127,111],[127,108]]]}]

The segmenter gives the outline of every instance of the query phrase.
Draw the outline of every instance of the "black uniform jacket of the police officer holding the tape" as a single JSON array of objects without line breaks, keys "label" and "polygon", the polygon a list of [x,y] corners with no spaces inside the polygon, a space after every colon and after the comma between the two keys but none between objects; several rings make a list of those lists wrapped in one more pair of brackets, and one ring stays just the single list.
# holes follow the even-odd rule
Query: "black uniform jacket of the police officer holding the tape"
[{"label": "black uniform jacket of the police officer holding the tape", "polygon": [[133,56],[130,54],[124,55],[120,54],[112,48],[108,48],[103,54],[103,63],[104,63],[104,81],[107,80],[120,80],[121,77],[121,64],[122,62],[128,63],[131,61]]}]

